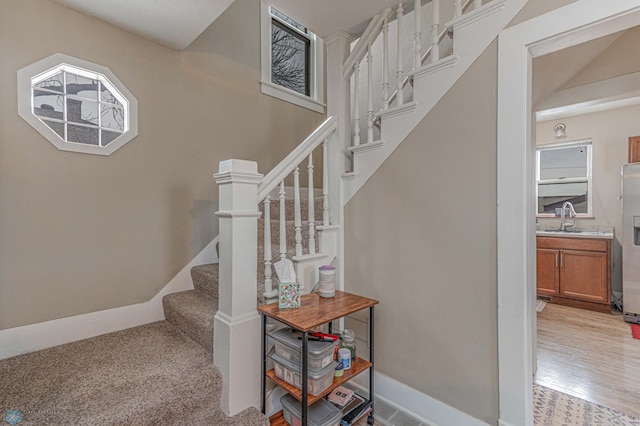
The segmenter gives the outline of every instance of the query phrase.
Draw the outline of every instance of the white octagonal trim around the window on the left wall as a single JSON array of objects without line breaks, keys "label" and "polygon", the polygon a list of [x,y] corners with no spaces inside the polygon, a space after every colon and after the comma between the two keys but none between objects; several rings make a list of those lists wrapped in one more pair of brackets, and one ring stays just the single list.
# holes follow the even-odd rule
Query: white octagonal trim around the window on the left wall
[{"label": "white octagonal trim around the window on the left wall", "polygon": [[[123,105],[125,105],[125,102],[122,102],[122,100],[125,100],[128,107],[128,120],[125,120],[127,124],[125,125],[124,133],[121,136],[103,147],[83,143],[66,142],[33,114],[31,79],[33,77],[40,76],[52,68],[60,66],[72,66],[79,69],[72,70],[74,73],[86,73],[84,75],[85,77],[104,80],[99,76],[99,74],[101,74],[117,89],[119,93],[114,95],[118,96],[118,99],[123,103]],[[120,99],[120,96],[122,96],[122,99]],[[115,76],[115,74],[113,74],[109,68],[102,65],[83,61],[82,59],[74,58],[73,56],[64,55],[62,53],[56,53],[48,58],[42,59],[18,70],[18,115],[61,151],[111,155],[138,135],[138,101],[125,87],[125,85],[122,84],[122,82]]]}]

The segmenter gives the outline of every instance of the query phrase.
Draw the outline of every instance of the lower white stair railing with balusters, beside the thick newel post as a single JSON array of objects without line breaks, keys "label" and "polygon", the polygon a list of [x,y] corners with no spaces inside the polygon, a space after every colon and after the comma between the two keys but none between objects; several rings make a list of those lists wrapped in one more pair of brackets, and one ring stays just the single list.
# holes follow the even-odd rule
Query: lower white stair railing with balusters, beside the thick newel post
[{"label": "lower white stair railing with balusters, beside the thick newel post", "polygon": [[[294,232],[295,232],[295,255],[291,260],[299,262],[305,257],[313,257],[325,253],[326,247],[323,245],[323,239],[320,238],[316,242],[316,231],[322,231],[330,225],[329,223],[329,179],[330,173],[328,154],[328,141],[330,136],[337,131],[337,119],[329,117],[318,129],[316,129],[309,137],[307,137],[291,154],[289,154],[280,164],[278,164],[270,173],[268,173],[262,182],[258,185],[258,202],[263,202],[264,207],[264,293],[263,296],[271,299],[277,295],[277,288],[273,286],[272,272],[272,241],[271,241],[271,192],[279,188],[278,198],[280,201],[280,218],[279,218],[279,254],[281,259],[288,257],[289,248],[287,247],[287,192],[285,188],[285,179],[289,176],[293,177],[293,204],[294,204]],[[322,147],[320,148],[320,146]],[[315,167],[313,165],[313,152],[317,148],[322,153],[322,209],[323,223],[322,226],[316,226],[315,220]],[[307,196],[308,208],[307,217],[302,217],[302,198],[300,190],[300,167],[303,162],[307,162]],[[303,236],[302,222],[308,222],[308,234],[306,239]],[[318,247],[316,247],[318,246]]]}]

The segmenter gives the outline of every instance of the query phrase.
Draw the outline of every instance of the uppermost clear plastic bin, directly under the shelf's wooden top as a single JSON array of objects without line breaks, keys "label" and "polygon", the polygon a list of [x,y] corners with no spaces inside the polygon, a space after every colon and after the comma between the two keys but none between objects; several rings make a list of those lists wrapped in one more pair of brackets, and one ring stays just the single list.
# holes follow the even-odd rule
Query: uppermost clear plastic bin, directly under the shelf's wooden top
[{"label": "uppermost clear plastic bin, directly under the shelf's wooden top", "polygon": [[[275,342],[276,354],[297,365],[302,365],[302,333],[291,328],[283,328],[271,335]],[[307,344],[307,366],[318,372],[333,362],[333,351],[338,342],[309,341]]]}]

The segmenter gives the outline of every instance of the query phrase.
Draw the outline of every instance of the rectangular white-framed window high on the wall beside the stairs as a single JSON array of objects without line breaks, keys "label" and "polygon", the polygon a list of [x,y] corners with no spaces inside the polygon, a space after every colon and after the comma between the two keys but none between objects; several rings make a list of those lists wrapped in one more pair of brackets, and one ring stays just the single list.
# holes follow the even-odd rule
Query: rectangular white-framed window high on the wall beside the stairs
[{"label": "rectangular white-framed window high on the wall beside the stairs", "polygon": [[262,92],[324,112],[322,40],[264,3],[262,15]]}]

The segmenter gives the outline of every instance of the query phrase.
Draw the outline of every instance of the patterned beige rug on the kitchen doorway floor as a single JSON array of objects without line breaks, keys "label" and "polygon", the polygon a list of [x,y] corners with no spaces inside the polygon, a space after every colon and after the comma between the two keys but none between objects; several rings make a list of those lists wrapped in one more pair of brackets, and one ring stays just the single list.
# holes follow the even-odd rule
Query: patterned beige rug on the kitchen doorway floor
[{"label": "patterned beige rug on the kitchen doorway floor", "polygon": [[640,419],[534,384],[533,423],[543,426],[640,426]]}]

